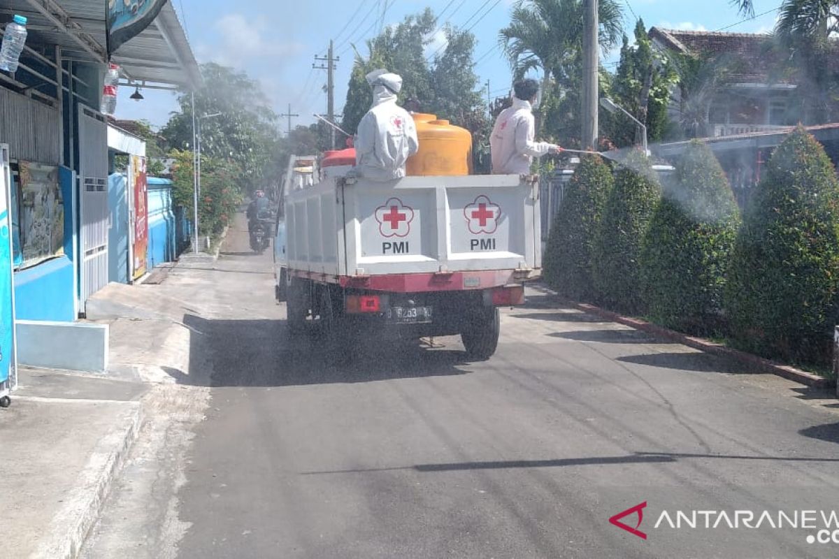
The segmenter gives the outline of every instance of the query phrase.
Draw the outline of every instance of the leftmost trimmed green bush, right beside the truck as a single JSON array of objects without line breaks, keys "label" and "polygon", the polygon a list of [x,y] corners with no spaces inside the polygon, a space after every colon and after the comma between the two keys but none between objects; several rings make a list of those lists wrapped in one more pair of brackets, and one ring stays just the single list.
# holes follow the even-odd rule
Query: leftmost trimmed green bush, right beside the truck
[{"label": "leftmost trimmed green bush, right beside the truck", "polygon": [[612,169],[602,158],[582,158],[565,187],[545,252],[545,279],[550,287],[576,301],[596,301],[591,254],[597,226],[612,189]]}]

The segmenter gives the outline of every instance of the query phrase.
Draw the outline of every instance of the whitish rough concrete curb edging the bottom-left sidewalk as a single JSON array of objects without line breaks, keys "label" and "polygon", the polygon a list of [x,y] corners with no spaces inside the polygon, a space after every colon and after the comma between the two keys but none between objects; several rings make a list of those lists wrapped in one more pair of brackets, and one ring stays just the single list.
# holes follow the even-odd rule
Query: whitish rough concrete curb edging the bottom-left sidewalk
[{"label": "whitish rough concrete curb edging the bottom-left sidewalk", "polygon": [[31,559],[76,559],[105,504],[113,480],[128,458],[143,424],[141,401],[127,402],[133,409],[123,416],[122,425],[114,428],[96,445],[85,471],[80,476],[83,496],[65,503],[50,524],[50,534]]}]

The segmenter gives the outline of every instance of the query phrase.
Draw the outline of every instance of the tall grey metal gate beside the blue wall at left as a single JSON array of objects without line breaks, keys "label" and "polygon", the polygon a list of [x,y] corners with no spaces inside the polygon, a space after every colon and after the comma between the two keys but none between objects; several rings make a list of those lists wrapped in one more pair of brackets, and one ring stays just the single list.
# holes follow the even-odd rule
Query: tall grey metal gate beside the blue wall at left
[{"label": "tall grey metal gate beside the blue wall at left", "polygon": [[79,105],[79,166],[81,189],[81,308],[107,285],[107,121]]}]

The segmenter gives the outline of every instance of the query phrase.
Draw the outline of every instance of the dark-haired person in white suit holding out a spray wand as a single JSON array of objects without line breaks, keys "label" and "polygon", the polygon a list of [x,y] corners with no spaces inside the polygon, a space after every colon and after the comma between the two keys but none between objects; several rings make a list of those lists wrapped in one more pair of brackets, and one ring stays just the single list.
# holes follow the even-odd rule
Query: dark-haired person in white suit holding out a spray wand
[{"label": "dark-haired person in white suit holding out a spray wand", "polygon": [[527,174],[533,158],[561,151],[554,143],[534,142],[533,105],[539,95],[539,82],[517,81],[513,91],[513,106],[501,111],[489,137],[495,174]]}]

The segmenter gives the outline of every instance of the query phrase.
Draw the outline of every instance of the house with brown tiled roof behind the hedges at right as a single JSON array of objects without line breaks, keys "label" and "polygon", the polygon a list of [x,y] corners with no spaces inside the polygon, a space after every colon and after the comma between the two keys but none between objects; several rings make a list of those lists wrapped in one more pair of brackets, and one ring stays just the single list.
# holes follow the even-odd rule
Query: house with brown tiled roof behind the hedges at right
[{"label": "house with brown tiled roof behind the hedges at right", "polygon": [[[696,135],[725,137],[750,132],[772,132],[798,122],[813,122],[798,98],[800,87],[781,75],[774,64],[773,42],[767,34],[678,31],[654,27],[649,37],[662,50],[691,54],[701,60],[724,60],[726,70],[707,94],[703,105],[704,130]],[[671,120],[680,122],[680,90],[674,91]],[[703,133],[704,132],[704,133]]]}]

